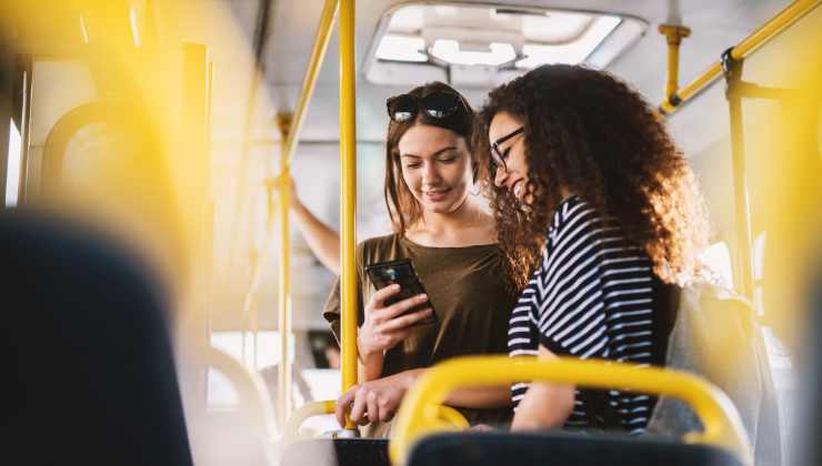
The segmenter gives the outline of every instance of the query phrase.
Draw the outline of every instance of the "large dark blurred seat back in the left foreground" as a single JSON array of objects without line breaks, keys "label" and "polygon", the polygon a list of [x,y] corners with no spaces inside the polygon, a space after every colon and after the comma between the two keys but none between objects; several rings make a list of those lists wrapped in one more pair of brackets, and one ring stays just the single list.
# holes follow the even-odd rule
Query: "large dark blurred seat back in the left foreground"
[{"label": "large dark blurred seat back in the left foreground", "polygon": [[121,249],[0,212],[0,463],[192,464],[164,303]]}]

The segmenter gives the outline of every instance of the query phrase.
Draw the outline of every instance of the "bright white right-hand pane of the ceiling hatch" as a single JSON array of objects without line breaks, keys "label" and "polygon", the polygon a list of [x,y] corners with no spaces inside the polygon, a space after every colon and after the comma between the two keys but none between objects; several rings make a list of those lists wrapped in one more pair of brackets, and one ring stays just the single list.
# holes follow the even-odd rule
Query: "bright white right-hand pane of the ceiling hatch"
[{"label": "bright white right-hand pane of the ceiling hatch", "polygon": [[517,68],[535,68],[545,63],[581,63],[620,23],[616,17],[600,17],[579,40],[561,45],[527,43],[522,47],[524,59]]}]

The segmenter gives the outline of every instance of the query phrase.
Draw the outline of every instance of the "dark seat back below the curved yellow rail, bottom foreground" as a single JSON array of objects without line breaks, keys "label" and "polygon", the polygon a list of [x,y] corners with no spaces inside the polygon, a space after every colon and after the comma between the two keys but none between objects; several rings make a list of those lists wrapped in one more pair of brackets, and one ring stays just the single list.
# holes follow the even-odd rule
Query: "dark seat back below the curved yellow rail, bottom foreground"
[{"label": "dark seat back below the curved yellow rail, bottom foreground", "polygon": [[463,432],[418,442],[407,466],[743,466],[732,453],[652,436],[568,432]]}]

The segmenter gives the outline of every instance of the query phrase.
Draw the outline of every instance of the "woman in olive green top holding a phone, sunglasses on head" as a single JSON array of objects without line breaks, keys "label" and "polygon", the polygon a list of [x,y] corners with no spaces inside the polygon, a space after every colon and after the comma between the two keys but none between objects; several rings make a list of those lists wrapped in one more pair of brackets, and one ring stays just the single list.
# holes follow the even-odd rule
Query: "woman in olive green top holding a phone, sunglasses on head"
[{"label": "woman in olive green top holding a phone, sunglasses on head", "polygon": [[[408,388],[425,367],[442,359],[505,354],[508,318],[515,296],[502,274],[491,214],[472,186],[480,180],[477,115],[452,88],[434,82],[389,99],[385,201],[397,233],[367,240],[357,249],[358,353],[361,383],[338,399],[337,417],[372,424],[384,435]],[[390,306],[397,285],[375,291],[363,273],[370,264],[410,259],[428,296]],[[437,322],[420,324],[431,310],[403,315],[427,300]],[[339,337],[339,286],[324,316]],[[508,387],[464,389],[448,403],[472,424],[510,418]]]}]

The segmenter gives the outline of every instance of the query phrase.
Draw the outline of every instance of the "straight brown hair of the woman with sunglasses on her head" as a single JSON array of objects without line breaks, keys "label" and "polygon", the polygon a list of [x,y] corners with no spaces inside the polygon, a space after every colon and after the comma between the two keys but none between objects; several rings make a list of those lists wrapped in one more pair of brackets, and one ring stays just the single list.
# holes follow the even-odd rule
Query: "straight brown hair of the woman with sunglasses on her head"
[{"label": "straight brown hair of the woman with sunglasses on her head", "polygon": [[411,128],[427,124],[453,131],[462,136],[465,140],[468,152],[471,154],[474,182],[488,176],[485,172],[487,164],[480,163],[480,158],[477,154],[477,148],[484,146],[484,140],[487,139],[485,132],[483,131],[479,115],[471,108],[471,104],[468,103],[465,97],[454,88],[439,81],[432,81],[414,88],[408,94],[420,99],[437,91],[450,92],[458,95],[462,101],[462,108],[448,118],[433,118],[420,111],[415,118],[409,121],[397,122],[391,120],[388,125],[388,136],[385,138],[385,186],[383,194],[393,230],[400,234],[405,233],[409,225],[415,224],[422,217],[422,207],[413,194],[411,194],[411,191],[405,185],[405,180],[402,178],[402,163],[398,149],[400,140]]}]

